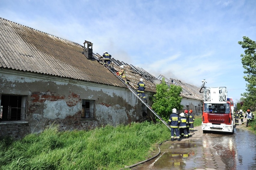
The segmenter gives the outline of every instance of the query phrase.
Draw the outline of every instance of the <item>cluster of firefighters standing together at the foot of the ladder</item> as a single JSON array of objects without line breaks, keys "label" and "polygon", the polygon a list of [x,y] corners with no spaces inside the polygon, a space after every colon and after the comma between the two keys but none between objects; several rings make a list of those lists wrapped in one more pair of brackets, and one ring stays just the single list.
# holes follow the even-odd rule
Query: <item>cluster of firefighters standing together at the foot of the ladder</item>
[{"label": "cluster of firefighters standing together at the foot of the ladder", "polygon": [[180,115],[177,113],[177,109],[172,109],[172,114],[168,120],[168,125],[171,127],[171,141],[174,141],[174,133],[176,133],[177,140],[180,141],[181,137],[192,137],[190,132],[194,132],[195,117],[192,114],[192,110],[184,110]]}]

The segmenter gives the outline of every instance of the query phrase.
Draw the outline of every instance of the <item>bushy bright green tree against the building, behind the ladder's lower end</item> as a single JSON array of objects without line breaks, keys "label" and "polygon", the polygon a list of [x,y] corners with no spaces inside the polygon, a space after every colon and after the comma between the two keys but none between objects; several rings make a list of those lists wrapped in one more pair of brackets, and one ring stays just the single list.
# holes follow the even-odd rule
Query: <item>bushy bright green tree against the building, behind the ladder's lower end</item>
[{"label": "bushy bright green tree against the building, behind the ladder's lower end", "polygon": [[157,93],[154,94],[152,109],[154,109],[157,114],[167,121],[172,109],[175,108],[181,110],[183,106],[181,105],[180,96],[182,88],[178,85],[168,86],[163,78],[161,83],[156,85]]}]

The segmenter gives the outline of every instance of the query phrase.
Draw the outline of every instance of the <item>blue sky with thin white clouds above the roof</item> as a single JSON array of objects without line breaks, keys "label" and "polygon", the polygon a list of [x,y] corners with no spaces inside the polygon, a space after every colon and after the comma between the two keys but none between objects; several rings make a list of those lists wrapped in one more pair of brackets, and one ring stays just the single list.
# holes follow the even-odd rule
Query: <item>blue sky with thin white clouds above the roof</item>
[{"label": "blue sky with thin white clouds above the roof", "polygon": [[256,41],[255,0],[0,0],[0,17],[83,45],[155,77],[246,92],[243,36]]}]

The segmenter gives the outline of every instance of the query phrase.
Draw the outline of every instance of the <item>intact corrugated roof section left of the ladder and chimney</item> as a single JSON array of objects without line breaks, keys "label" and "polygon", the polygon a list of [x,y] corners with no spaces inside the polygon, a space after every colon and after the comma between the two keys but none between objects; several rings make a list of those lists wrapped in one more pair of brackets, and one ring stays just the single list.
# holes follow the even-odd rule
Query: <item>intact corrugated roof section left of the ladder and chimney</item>
[{"label": "intact corrugated roof section left of the ladder and chimney", "polygon": [[78,43],[0,18],[0,67],[126,87]]}]

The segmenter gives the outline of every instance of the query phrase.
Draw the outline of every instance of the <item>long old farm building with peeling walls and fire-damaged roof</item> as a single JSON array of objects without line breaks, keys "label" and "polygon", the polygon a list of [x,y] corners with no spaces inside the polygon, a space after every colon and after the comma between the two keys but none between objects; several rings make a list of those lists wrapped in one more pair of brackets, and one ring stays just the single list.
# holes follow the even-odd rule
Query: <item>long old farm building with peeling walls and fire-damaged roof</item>
[{"label": "long old farm building with peeling walls and fire-damaged roof", "polygon": [[[60,130],[88,130],[152,118],[98,54],[91,49],[85,56],[90,42],[83,46],[3,18],[0,37],[0,136],[21,138],[53,122]],[[124,65],[134,84],[145,80],[149,101],[157,78],[142,68],[112,63],[116,70]],[[202,100],[190,96],[193,107]]]}]

